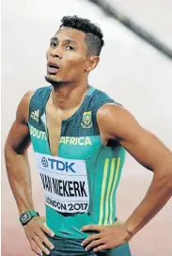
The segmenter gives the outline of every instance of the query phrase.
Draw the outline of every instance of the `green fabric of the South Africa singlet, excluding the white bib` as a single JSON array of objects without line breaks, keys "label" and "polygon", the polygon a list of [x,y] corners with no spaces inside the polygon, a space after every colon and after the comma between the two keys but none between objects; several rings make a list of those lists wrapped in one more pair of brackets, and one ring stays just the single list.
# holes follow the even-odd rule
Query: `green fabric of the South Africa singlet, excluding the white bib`
[{"label": "green fabric of the South Africa singlet, excluding the white bib", "polygon": [[[45,105],[51,89],[39,88],[33,95],[28,123],[34,151],[47,155],[51,155],[51,151],[45,122]],[[96,114],[107,103],[115,102],[102,91],[90,88],[75,114],[62,121],[58,156],[86,161],[90,200],[86,213],[61,214],[46,205],[47,225],[58,236],[85,238],[88,233],[81,232],[82,226],[110,225],[116,219],[116,192],[125,150],[120,145],[102,145]]]}]

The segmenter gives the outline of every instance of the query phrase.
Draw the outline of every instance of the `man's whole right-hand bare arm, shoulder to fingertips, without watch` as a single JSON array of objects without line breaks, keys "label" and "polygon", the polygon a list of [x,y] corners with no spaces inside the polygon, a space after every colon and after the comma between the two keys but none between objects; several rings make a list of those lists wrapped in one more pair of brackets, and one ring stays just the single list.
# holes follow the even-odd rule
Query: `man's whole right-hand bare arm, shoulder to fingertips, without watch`
[{"label": "man's whole right-hand bare arm, shoulder to fingertips, without watch", "polygon": [[116,248],[128,242],[155,216],[172,196],[172,152],[154,135],[143,129],[126,109],[103,105],[97,113],[102,142],[117,139],[144,167],[153,171],[153,179],[144,200],[121,225],[88,225],[83,232],[96,231],[82,243],[87,250]]}]

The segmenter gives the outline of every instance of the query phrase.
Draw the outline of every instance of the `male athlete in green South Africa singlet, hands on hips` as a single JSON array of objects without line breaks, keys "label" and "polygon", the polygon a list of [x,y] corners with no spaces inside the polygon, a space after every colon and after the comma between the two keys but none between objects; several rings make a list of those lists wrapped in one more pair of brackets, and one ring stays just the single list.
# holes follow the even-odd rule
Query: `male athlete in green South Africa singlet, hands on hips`
[{"label": "male athlete in green South Africa singlet, hands on hips", "polygon": [[[172,195],[172,152],[124,107],[88,85],[102,46],[97,25],[64,17],[46,55],[51,86],[23,96],[8,134],[9,184],[26,237],[39,255],[129,256],[128,242]],[[46,223],[32,200],[30,142],[45,194]],[[125,150],[153,171],[153,179],[122,224],[116,192]]]}]

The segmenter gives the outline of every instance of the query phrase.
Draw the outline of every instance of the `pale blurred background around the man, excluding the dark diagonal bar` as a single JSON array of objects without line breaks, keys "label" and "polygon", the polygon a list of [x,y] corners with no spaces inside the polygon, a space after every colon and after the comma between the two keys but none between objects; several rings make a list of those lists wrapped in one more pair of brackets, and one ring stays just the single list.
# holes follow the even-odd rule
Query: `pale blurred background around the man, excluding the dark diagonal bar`
[{"label": "pale blurred background around the man, excluding the dark diagonal bar", "polygon": [[[97,1],[98,2],[98,1]],[[100,1],[140,25],[172,48],[172,0]],[[112,8],[111,8],[112,9]],[[32,256],[8,185],[4,143],[17,105],[30,89],[46,86],[45,52],[65,15],[99,24],[105,46],[90,85],[123,104],[172,150],[172,61],[102,8],[85,0],[2,1],[2,255]],[[120,16],[120,15],[119,15]],[[121,16],[120,16],[121,18]],[[33,197],[44,215],[44,199],[32,147],[29,149]],[[117,192],[117,216],[125,220],[144,198],[152,173],[129,154]],[[172,255],[172,201],[131,241],[133,256]]]}]

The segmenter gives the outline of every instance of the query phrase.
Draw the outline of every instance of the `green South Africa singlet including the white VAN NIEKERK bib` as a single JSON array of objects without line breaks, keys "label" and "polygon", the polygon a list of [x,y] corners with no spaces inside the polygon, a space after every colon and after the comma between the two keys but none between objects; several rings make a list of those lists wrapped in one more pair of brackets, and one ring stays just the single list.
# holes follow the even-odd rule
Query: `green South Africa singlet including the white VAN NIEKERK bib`
[{"label": "green South Africa singlet including the white VAN NIEKERK bib", "polygon": [[116,221],[116,192],[125,150],[114,142],[107,147],[96,119],[98,109],[115,103],[105,93],[89,88],[79,109],[62,121],[58,156],[53,156],[46,126],[45,106],[52,87],[39,88],[30,101],[29,131],[45,194],[46,222],[59,237],[84,239],[88,224]]}]

